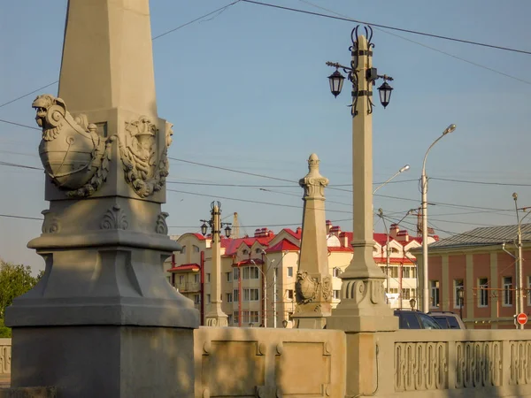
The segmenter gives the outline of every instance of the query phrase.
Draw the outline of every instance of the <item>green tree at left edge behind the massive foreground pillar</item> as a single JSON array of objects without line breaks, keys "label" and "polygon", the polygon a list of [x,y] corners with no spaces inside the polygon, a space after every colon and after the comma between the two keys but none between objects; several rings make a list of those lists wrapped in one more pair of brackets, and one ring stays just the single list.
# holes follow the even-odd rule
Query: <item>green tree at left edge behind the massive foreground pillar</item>
[{"label": "green tree at left edge behind the massive foreground pillar", "polygon": [[41,279],[42,272],[36,277],[31,275],[31,268],[22,264],[6,263],[0,259],[0,318],[4,319],[5,308],[13,299],[24,295]]}]

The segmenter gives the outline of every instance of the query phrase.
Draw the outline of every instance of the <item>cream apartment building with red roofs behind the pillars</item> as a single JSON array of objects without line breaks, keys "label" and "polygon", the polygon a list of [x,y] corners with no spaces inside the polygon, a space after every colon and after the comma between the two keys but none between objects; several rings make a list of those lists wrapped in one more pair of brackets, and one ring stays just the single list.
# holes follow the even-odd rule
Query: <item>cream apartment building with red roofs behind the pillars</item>
[{"label": "cream apartment building with red roofs behind the pillars", "polygon": [[[301,244],[301,228],[282,229],[279,233],[267,228],[257,229],[252,237],[225,238],[221,246],[221,308],[231,326],[282,327],[291,325],[295,312],[295,282]],[[166,261],[169,282],[189,297],[204,314],[211,296],[211,239],[200,233],[184,233],[175,237],[182,246]],[[430,237],[431,241],[435,238]],[[352,233],[327,221],[328,268],[333,276],[333,306],[340,300],[341,273],[352,258]],[[411,237],[398,226],[386,233],[374,233],[373,256],[382,272],[389,274],[384,286],[388,289],[389,305],[409,308],[417,296],[416,259],[409,252],[420,246],[418,237]],[[389,250],[389,264],[388,264]]]}]

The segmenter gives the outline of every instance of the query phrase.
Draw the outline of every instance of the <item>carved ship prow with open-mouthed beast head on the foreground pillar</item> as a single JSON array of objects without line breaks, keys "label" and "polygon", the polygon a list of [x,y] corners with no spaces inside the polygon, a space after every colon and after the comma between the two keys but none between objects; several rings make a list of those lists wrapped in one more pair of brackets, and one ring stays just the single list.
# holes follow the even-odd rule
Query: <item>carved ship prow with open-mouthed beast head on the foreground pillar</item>
[{"label": "carved ship prow with open-mouthed beast head on the foreground pillar", "polygon": [[39,155],[51,181],[69,197],[92,195],[109,172],[111,141],[104,142],[87,116],[73,116],[61,98],[44,94],[32,103],[42,127]]}]

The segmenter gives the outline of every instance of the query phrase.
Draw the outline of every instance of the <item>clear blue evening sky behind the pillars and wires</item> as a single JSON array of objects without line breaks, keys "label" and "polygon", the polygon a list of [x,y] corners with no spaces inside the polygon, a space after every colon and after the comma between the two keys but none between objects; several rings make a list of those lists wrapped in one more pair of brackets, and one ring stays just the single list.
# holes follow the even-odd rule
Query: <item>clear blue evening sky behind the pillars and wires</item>
[{"label": "clear blue evening sky behind the pillars and wires", "polygon": [[[346,83],[334,98],[327,81],[334,69],[325,63],[350,63],[350,31],[358,24],[244,1],[198,19],[230,3],[150,2],[152,36],[164,34],[153,42],[158,115],[173,123],[169,156],[180,159],[170,162],[164,205],[170,233],[198,232],[213,200],[221,202],[224,221],[238,213],[241,233],[300,226],[303,190],[296,181],[308,172],[313,152],[330,180],[327,219],[351,231],[350,87]],[[527,0],[503,7],[494,0],[265,3],[531,51]],[[31,103],[37,94],[57,95],[66,4],[0,4],[4,163],[42,168],[41,134],[25,126],[35,126]],[[515,224],[512,193],[518,192],[519,207],[531,206],[531,56],[384,27],[374,27],[373,43],[373,66],[394,78],[385,110],[375,96],[374,187],[411,166],[379,189],[374,210],[383,210],[389,226],[419,207],[423,157],[454,123],[455,132],[427,157],[429,225],[445,237]],[[42,224],[28,218],[42,218],[48,208],[44,176],[2,162],[0,257],[39,270],[42,258],[26,245],[40,235]],[[415,223],[408,216],[401,227],[415,234]],[[374,230],[385,230],[378,217]]]}]

